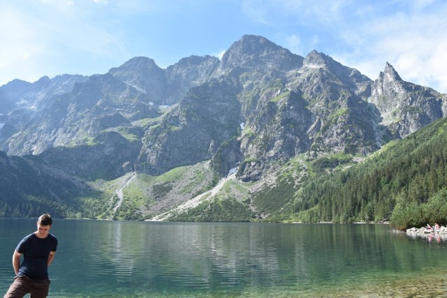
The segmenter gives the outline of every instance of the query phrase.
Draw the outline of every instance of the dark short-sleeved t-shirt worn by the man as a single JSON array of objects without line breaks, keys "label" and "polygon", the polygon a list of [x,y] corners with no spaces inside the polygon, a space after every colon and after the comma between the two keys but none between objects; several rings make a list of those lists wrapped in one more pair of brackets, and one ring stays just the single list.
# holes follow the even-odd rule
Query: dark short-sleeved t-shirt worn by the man
[{"label": "dark short-sleeved t-shirt worn by the man", "polygon": [[34,233],[24,237],[15,248],[24,256],[17,275],[24,275],[34,280],[48,278],[48,256],[56,249],[57,239],[52,234],[48,234],[44,239],[37,237]]}]

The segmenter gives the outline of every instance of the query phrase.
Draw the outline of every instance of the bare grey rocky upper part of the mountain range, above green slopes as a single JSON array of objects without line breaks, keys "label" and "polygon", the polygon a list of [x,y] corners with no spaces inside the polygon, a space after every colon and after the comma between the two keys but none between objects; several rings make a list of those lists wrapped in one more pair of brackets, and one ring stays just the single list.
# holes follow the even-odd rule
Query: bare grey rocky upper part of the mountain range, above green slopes
[{"label": "bare grey rocky upper part of the mountain range, above green slopes", "polygon": [[[247,35],[221,61],[191,56],[162,69],[135,57],[103,75],[3,85],[0,149],[52,163],[93,146],[94,167],[106,162],[101,150],[114,156],[108,178],[210,160],[221,176],[238,167],[237,177],[254,181],[298,154],[367,156],[444,117],[446,101],[390,64],[372,81],[323,53],[300,57]],[[87,160],[71,170],[93,177],[82,174]]]}]

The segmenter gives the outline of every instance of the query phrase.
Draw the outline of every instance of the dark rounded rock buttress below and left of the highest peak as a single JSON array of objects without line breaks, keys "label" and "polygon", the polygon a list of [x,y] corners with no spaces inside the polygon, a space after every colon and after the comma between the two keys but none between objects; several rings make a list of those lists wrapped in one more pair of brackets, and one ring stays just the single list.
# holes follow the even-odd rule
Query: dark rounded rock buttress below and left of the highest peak
[{"label": "dark rounded rock buttress below and left of the highest peak", "polygon": [[240,103],[233,82],[212,81],[189,91],[160,123],[149,127],[136,165],[149,174],[211,159],[240,135]]}]

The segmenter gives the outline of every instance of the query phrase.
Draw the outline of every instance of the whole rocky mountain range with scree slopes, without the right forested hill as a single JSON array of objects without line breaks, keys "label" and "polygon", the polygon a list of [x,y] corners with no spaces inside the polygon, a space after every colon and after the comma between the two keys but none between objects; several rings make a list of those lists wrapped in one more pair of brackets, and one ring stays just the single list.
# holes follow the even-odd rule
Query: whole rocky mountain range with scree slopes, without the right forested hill
[{"label": "whole rocky mountain range with scree slopes, without the right forested hill", "polygon": [[[5,164],[34,161],[34,174],[66,177],[58,187],[87,187],[60,204],[43,192],[61,217],[203,221],[290,212],[309,177],[360,165],[447,108],[445,94],[404,82],[388,63],[371,80],[316,50],[301,57],[251,35],[221,60],[163,69],[135,57],[102,75],[14,80],[0,102]],[[34,215],[3,200],[2,216]]]}]

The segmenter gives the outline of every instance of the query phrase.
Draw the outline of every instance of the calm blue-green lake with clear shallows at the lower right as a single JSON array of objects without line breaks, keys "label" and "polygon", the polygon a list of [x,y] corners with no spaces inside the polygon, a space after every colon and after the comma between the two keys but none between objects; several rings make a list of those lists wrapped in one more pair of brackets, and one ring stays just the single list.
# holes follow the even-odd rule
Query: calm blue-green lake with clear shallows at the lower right
[{"label": "calm blue-green lake with clear shallows at the lower right", "polygon": [[[0,295],[36,220],[0,218]],[[447,297],[447,241],[388,225],[54,220],[49,297]]]}]

